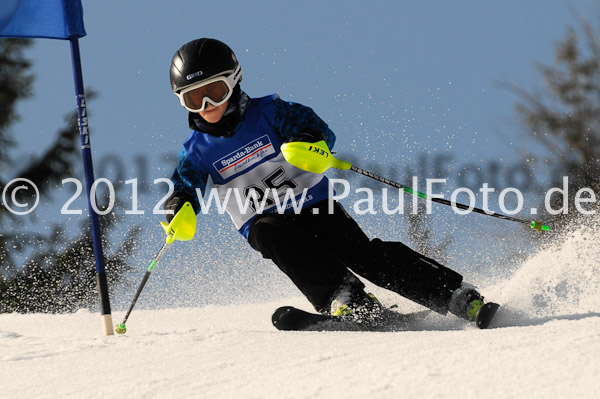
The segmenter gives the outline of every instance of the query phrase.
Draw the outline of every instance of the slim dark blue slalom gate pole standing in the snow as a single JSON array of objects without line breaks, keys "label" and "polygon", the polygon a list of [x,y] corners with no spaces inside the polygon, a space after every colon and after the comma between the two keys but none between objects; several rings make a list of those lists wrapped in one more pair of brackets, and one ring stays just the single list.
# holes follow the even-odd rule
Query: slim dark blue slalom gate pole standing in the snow
[{"label": "slim dark blue slalom gate pole standing in the snow", "polygon": [[77,99],[77,116],[79,119],[79,135],[81,138],[81,155],[83,157],[83,170],[85,174],[86,193],[88,199],[88,212],[92,228],[92,245],[96,260],[96,284],[100,298],[100,316],[104,326],[104,335],[113,335],[112,316],[110,312],[110,299],[108,297],[108,281],[104,267],[104,254],[102,252],[102,236],[100,234],[100,221],[98,214],[92,207],[91,188],[94,184],[94,168],[92,164],[92,147],[88,127],[85,91],[83,88],[83,73],[81,70],[81,56],[79,53],[79,40],[76,37],[69,39],[71,42],[71,60],[73,64],[73,77],[75,81],[75,95]]}]

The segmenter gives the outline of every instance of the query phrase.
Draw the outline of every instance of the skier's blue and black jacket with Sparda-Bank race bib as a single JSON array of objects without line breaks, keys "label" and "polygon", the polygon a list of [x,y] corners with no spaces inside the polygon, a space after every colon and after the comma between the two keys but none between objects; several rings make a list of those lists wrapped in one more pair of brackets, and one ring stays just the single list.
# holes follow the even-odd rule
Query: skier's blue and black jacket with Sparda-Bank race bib
[{"label": "skier's blue and black jacket with Sparda-Bank race bib", "polygon": [[[218,198],[220,209],[229,213],[238,231],[248,238],[250,225],[259,213],[294,212],[292,205],[301,200],[303,207],[310,207],[328,198],[328,179],[292,166],[280,147],[308,134],[324,138],[333,148],[335,134],[304,105],[283,101],[277,95],[245,99],[232,135],[194,129],[183,144],[171,180],[175,193],[193,198],[197,212]],[[206,195],[209,176],[214,192],[208,194],[205,203],[202,196]],[[291,204],[291,193],[295,204]]]}]

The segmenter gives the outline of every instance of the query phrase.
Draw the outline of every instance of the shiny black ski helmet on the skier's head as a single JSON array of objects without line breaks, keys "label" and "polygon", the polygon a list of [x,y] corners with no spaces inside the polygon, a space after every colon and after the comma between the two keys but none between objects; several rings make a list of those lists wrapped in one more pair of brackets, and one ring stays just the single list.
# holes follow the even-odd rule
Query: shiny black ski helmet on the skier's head
[{"label": "shiny black ski helmet on the skier's head", "polygon": [[[233,74],[239,62],[228,45],[216,39],[196,39],[181,46],[171,60],[171,89],[178,93],[193,84]],[[242,71],[235,77],[242,81]]]}]

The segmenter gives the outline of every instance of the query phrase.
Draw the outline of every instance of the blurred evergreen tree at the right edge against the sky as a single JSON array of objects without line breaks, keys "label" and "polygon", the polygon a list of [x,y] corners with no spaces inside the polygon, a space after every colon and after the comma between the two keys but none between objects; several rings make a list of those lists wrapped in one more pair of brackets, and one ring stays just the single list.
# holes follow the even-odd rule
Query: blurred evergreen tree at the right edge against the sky
[{"label": "blurred evergreen tree at the right edge against the sky", "polygon": [[[521,99],[516,109],[522,121],[549,151],[543,161],[552,170],[553,187],[563,186],[563,176],[569,178],[568,214],[554,217],[555,226],[579,214],[574,205],[579,189],[600,189],[599,40],[592,24],[580,18],[580,29],[570,27],[557,43],[555,64],[539,66],[546,88],[528,92],[513,87]],[[562,196],[554,195],[551,205],[561,209]]]}]

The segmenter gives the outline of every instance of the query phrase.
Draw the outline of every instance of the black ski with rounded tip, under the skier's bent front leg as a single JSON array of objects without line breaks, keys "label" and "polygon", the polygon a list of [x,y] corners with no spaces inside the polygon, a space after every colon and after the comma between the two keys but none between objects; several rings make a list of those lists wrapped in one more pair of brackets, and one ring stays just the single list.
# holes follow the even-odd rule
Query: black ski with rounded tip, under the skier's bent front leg
[{"label": "black ski with rounded tip, under the skier's bent front leg", "polygon": [[271,321],[282,331],[396,331],[418,317],[425,317],[429,310],[402,314],[389,309],[384,310],[381,324],[369,325],[348,320],[340,316],[329,316],[306,312],[293,306],[277,309]]}]

